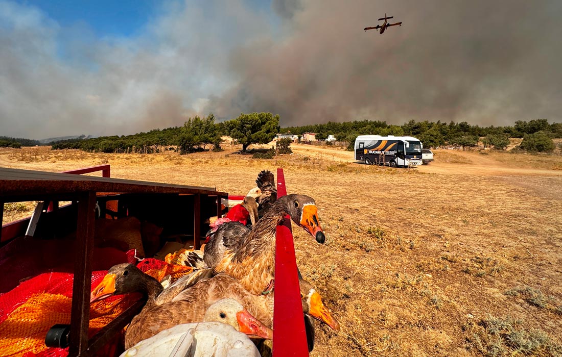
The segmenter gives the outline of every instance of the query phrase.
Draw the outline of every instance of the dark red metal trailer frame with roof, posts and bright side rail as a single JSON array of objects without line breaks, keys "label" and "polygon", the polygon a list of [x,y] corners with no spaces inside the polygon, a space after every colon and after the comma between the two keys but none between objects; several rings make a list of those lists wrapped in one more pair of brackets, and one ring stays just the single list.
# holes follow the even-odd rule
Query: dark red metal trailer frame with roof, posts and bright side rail
[{"label": "dark red metal trailer frame with roof, posts and bright side rail", "polygon": [[[102,171],[103,177],[68,175]],[[74,287],[72,290],[71,336],[69,356],[90,356],[120,331],[142,308],[138,301],[102,331],[88,338],[89,294],[91,290],[94,212],[98,203],[101,214],[108,202],[117,202],[119,212],[156,219],[170,231],[178,230],[174,219],[193,217],[191,224],[182,222],[182,234],[193,237],[193,245],[200,246],[205,219],[223,213],[221,200],[228,194],[211,187],[161,184],[132,180],[111,179],[109,165],[81,168],[66,173],[37,172],[0,168],[0,222],[3,205],[7,202],[38,200],[48,202],[37,209],[38,231],[45,232],[60,226],[61,220],[72,220],[76,229]],[[278,169],[278,196],[286,194],[283,170]],[[231,196],[231,198],[235,198]],[[66,207],[58,207],[60,201],[71,201]],[[101,203],[101,204],[100,204]],[[171,207],[161,212],[156,207]],[[179,211],[179,212],[176,212]],[[73,215],[74,214],[74,215]],[[74,218],[72,218],[74,217]],[[179,218],[182,219],[182,218]],[[2,226],[0,249],[7,241],[25,234],[34,224],[32,218],[22,219]],[[58,227],[60,228],[60,227]],[[189,230],[189,232],[185,230]],[[204,231],[203,231],[204,232]],[[291,219],[287,216],[277,228],[275,257],[275,305],[273,355],[308,356],[306,333],[303,322],[297,266],[294,255]]]}]

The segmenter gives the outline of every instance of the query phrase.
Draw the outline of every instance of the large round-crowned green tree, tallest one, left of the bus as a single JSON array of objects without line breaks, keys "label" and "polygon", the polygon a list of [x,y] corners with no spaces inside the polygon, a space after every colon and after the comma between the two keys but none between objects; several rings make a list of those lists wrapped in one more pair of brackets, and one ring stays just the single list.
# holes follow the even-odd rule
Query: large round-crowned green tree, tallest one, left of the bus
[{"label": "large round-crowned green tree, tallest one, left of the bus", "polygon": [[251,144],[267,144],[279,132],[279,115],[271,113],[242,113],[238,118],[225,123],[230,137],[242,144],[242,151]]}]

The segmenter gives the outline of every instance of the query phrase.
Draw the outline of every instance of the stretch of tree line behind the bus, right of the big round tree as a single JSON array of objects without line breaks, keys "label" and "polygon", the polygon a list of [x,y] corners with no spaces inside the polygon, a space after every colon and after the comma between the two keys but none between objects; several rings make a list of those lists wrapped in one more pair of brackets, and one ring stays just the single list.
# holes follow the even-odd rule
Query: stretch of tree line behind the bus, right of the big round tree
[{"label": "stretch of tree line behind the bus, right of the big round tree", "polygon": [[[388,125],[384,121],[348,121],[327,122],[324,124],[289,126],[282,129],[283,134],[290,132],[302,135],[315,132],[315,138],[324,140],[334,135],[338,141],[353,143],[358,135],[395,135],[414,136],[422,141],[424,147],[456,145],[463,149],[474,147],[481,141],[486,147],[505,150],[509,138],[523,138],[521,148],[529,151],[551,151],[554,143],[551,139],[562,138],[562,123],[549,123],[546,119],[516,121],[513,126],[478,126],[467,122],[415,121],[410,120],[404,125]],[[482,138],[482,139],[481,139]]]}]

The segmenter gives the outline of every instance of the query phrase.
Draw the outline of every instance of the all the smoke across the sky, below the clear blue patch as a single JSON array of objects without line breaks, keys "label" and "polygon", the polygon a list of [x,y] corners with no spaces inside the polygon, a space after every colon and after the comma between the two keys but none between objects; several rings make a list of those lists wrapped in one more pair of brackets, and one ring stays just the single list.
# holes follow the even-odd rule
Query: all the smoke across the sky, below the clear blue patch
[{"label": "all the smoke across the sky, below the clear blue patch", "polygon": [[[384,13],[402,21],[380,35]],[[0,0],[0,135],[122,135],[193,115],[512,125],[562,109],[562,2],[167,2],[94,35]]]}]

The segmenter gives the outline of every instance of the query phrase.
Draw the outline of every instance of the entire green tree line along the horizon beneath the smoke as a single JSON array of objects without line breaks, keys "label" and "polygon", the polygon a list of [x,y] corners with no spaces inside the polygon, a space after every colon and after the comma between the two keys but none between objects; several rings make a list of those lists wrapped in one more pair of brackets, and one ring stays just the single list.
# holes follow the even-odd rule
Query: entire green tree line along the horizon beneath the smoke
[{"label": "entire green tree line along the horizon beneath the smoke", "polygon": [[[222,150],[221,136],[233,138],[246,152],[251,144],[266,144],[275,134],[302,135],[315,132],[316,139],[324,140],[334,135],[338,141],[348,141],[352,147],[357,135],[415,136],[424,147],[457,145],[467,148],[481,142],[484,147],[505,150],[509,138],[523,138],[521,148],[529,151],[551,151],[552,138],[562,138],[562,123],[549,123],[546,119],[516,121],[513,126],[478,126],[467,122],[430,122],[410,120],[403,125],[389,125],[384,121],[327,122],[323,124],[279,127],[279,116],[271,113],[242,113],[229,121],[215,122],[214,115],[189,118],[183,126],[154,129],[134,135],[101,136],[58,140],[50,143],[53,149],[80,149],[104,153],[155,153],[178,150],[181,154],[201,150]],[[19,146],[18,146],[19,145]],[[20,147],[39,145],[37,140],[0,137],[0,146]]]}]

